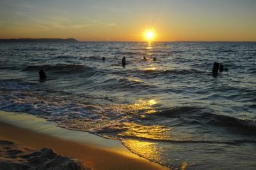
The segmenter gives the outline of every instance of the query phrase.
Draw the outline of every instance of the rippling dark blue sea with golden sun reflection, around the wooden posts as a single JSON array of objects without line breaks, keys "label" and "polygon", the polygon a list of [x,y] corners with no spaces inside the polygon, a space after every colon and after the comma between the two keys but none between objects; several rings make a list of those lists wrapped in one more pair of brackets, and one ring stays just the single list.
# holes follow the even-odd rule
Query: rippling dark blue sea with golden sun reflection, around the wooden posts
[{"label": "rippling dark blue sea with golden sun reflection, around the wooden posts", "polygon": [[[228,71],[212,76],[214,62]],[[255,169],[255,84],[255,42],[0,43],[0,110],[173,169]]]}]

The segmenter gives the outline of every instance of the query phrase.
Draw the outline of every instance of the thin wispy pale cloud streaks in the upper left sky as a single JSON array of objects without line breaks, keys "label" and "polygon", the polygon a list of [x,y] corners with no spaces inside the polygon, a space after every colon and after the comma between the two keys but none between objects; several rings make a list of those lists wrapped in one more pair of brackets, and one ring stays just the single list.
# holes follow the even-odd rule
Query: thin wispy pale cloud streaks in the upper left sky
[{"label": "thin wispy pale cloud streaks in the upper left sky", "polygon": [[[1,0],[0,0],[1,1]],[[52,30],[67,30],[67,29],[83,29],[85,27],[109,27],[116,26],[116,23],[111,21],[100,21],[81,15],[81,13],[71,13],[58,8],[42,8],[27,3],[12,4],[17,10],[13,15],[9,11],[1,13],[8,16],[0,21],[6,23],[6,27],[10,29],[27,29],[32,31],[52,31]]]}]

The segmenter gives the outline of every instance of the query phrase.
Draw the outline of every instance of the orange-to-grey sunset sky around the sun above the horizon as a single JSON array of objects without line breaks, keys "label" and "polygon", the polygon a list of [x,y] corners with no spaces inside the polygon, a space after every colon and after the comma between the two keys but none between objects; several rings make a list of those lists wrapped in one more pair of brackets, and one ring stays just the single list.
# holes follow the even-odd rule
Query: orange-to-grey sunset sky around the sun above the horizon
[{"label": "orange-to-grey sunset sky around the sun above the horizon", "polygon": [[256,41],[255,0],[1,0],[0,38]]}]

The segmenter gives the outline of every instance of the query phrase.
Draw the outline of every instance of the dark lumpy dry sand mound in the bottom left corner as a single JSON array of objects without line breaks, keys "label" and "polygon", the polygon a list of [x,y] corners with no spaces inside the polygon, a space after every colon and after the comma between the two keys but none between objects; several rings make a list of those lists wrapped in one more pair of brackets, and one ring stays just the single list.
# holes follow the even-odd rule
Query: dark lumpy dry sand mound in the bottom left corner
[{"label": "dark lumpy dry sand mound in the bottom left corner", "polygon": [[80,160],[62,157],[50,148],[31,150],[11,141],[0,141],[0,169],[90,170]]}]

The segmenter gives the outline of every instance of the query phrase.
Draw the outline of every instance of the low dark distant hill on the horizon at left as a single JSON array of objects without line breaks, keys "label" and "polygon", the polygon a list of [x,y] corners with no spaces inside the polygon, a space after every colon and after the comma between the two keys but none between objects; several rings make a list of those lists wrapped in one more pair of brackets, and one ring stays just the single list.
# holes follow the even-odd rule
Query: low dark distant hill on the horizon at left
[{"label": "low dark distant hill on the horizon at left", "polygon": [[0,39],[0,42],[78,42],[75,38],[11,38]]}]

